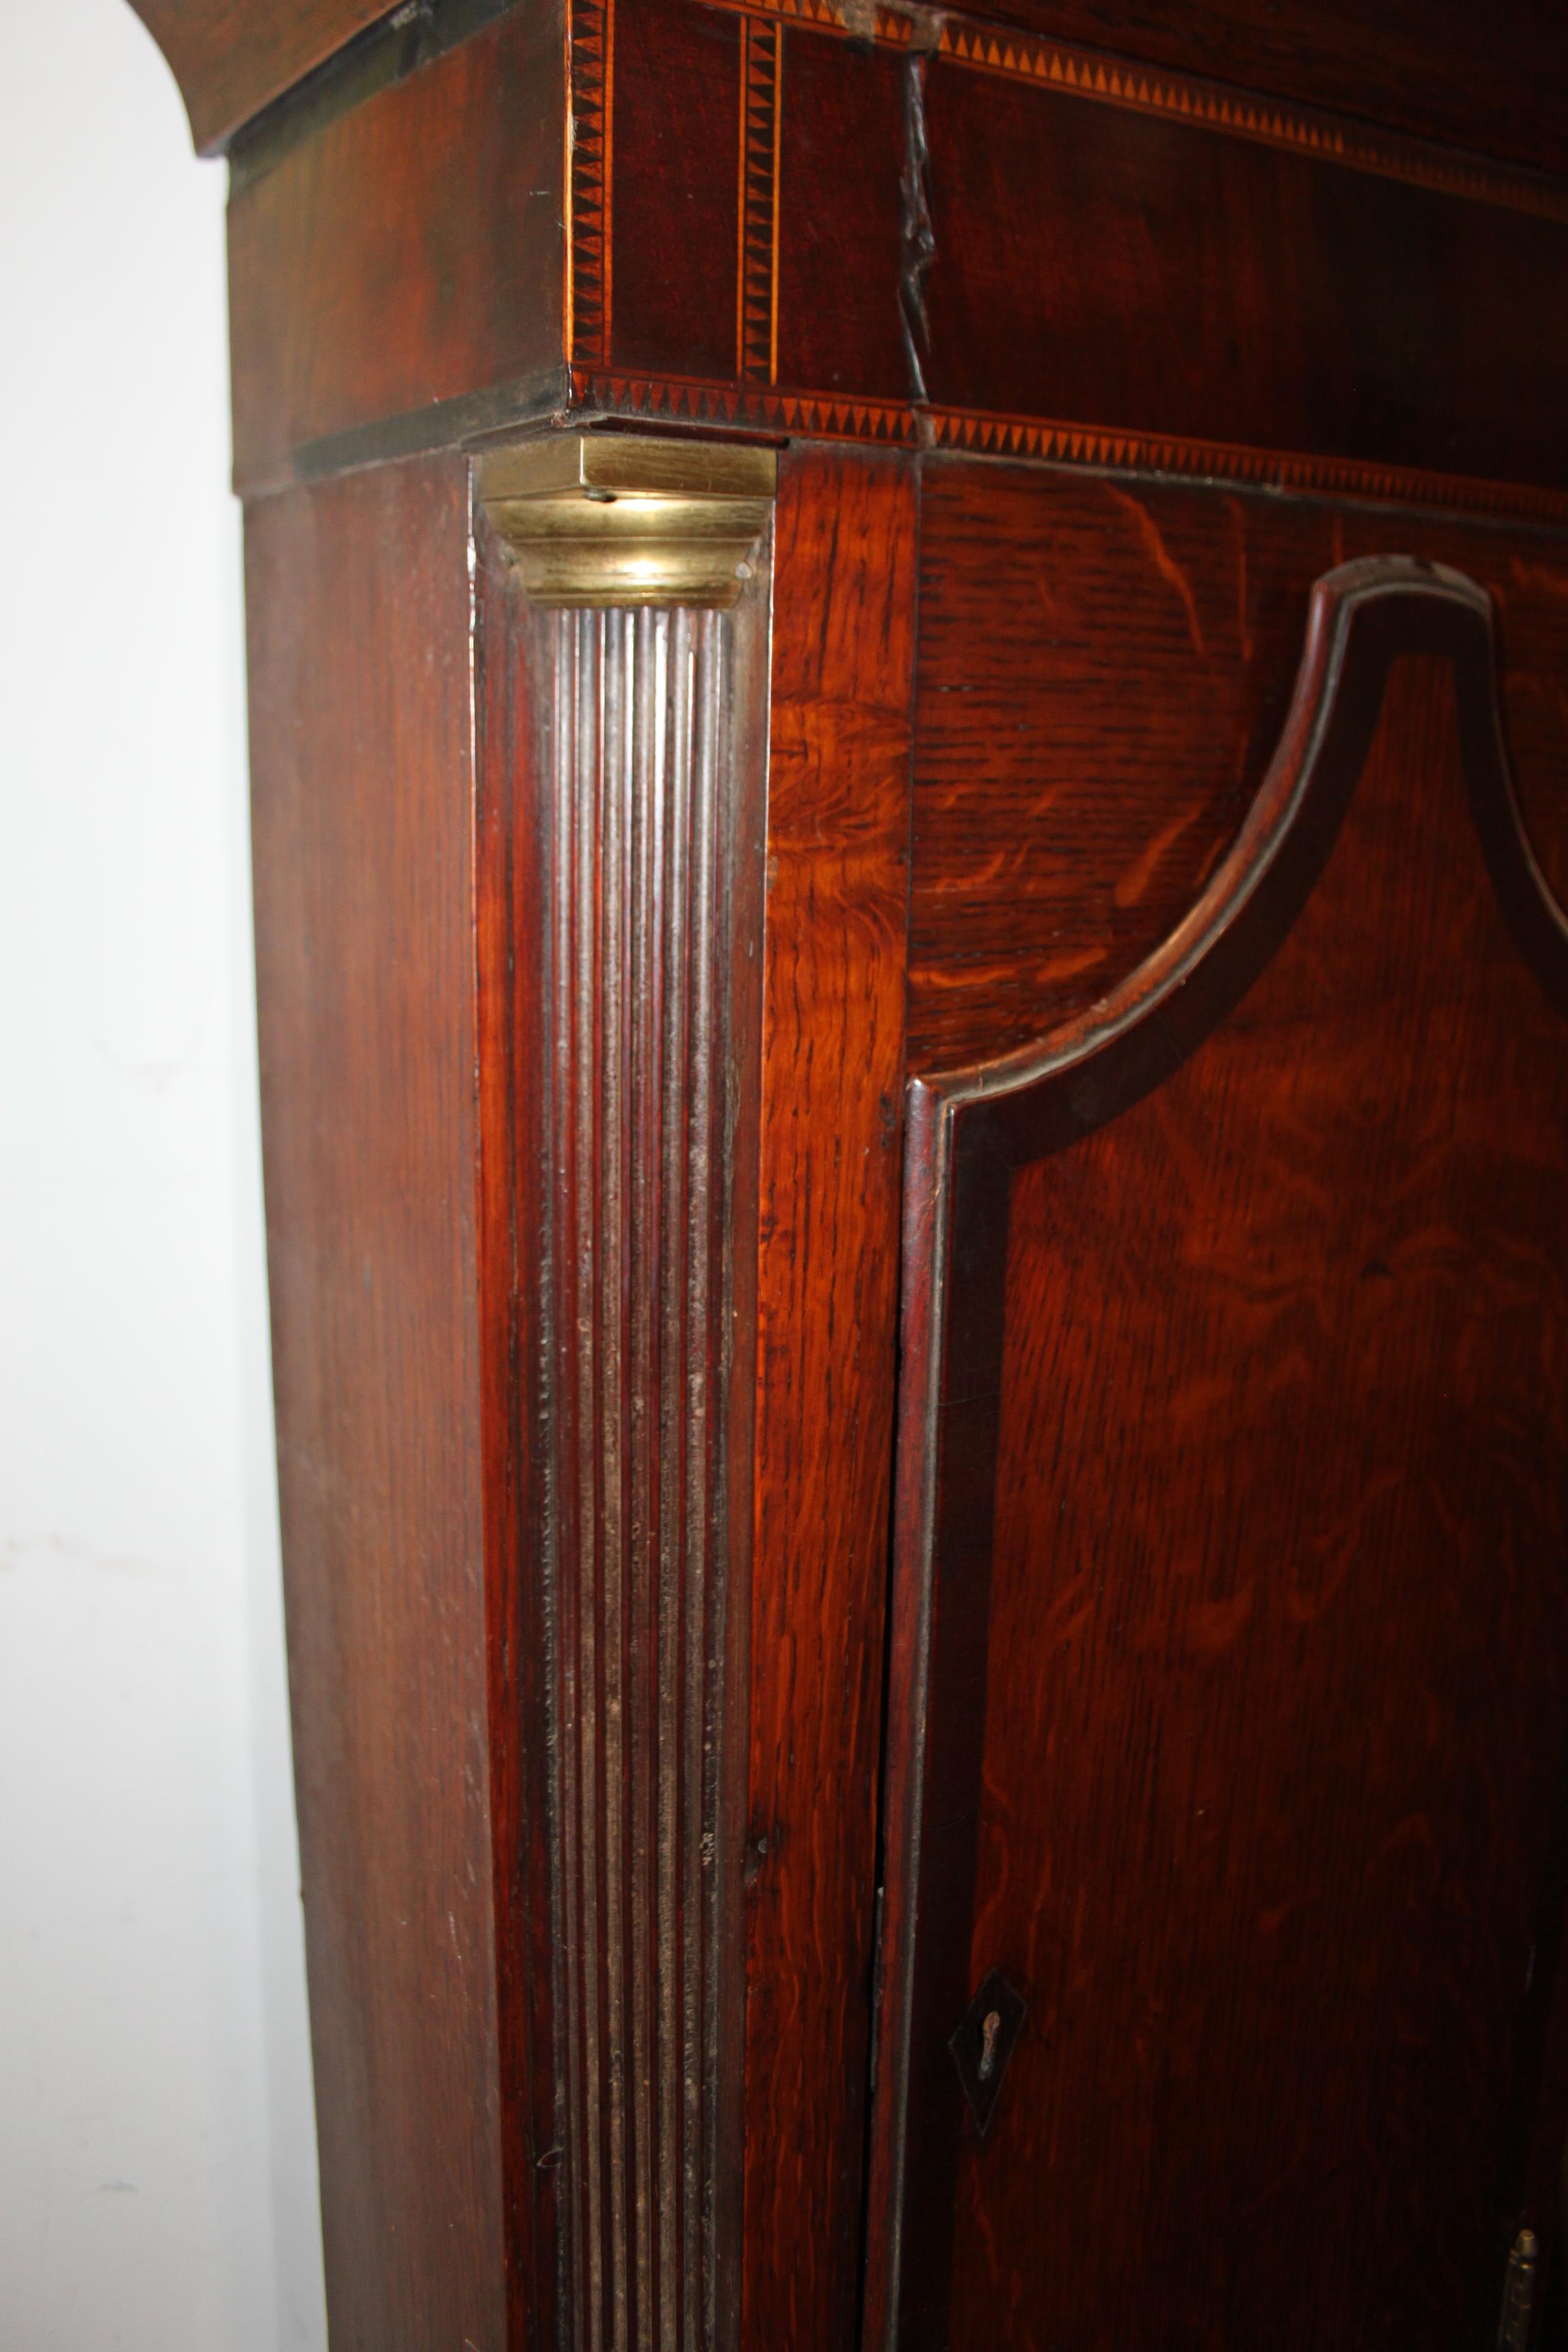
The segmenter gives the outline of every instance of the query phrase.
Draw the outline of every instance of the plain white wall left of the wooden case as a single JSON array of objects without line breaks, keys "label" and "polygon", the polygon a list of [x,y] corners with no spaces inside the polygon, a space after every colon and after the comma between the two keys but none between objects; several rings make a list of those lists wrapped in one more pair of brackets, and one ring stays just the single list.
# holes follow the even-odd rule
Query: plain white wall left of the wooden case
[{"label": "plain white wall left of the wooden case", "polygon": [[317,2347],[223,169],[0,31],[0,2352]]}]

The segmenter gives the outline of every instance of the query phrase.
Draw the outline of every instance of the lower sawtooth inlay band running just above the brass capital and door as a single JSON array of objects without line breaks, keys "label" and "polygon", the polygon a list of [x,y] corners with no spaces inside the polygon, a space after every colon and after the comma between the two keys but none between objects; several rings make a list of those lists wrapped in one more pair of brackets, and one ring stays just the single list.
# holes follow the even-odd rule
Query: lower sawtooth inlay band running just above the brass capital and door
[{"label": "lower sawtooth inlay band running just above the brass capital and door", "polygon": [[994,416],[978,409],[914,409],[839,393],[755,390],[686,379],[574,374],[576,407],[604,416],[663,423],[741,426],[757,433],[804,433],[898,449],[954,449],[1041,466],[1091,466],[1095,473],[1175,473],[1258,489],[1293,489],[1321,499],[1373,499],[1462,515],[1497,515],[1568,529],[1568,492],[1530,482],[1490,482],[1418,466],[1253,449],[1241,442],[1180,440],[1171,433],[1121,433],[1110,426],[1058,423],[1046,416]]}]

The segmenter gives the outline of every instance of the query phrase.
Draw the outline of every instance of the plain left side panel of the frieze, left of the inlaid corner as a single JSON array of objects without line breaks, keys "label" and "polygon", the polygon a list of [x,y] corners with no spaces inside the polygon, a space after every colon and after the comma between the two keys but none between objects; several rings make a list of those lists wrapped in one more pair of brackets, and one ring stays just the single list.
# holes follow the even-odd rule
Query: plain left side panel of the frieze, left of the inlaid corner
[{"label": "plain left side panel of the frieze, left of the inlaid corner", "polygon": [[550,405],[564,118],[559,0],[524,0],[235,188],[240,487],[287,480],[322,442],[327,466],[367,423],[428,433],[435,402],[489,395],[494,421]]}]

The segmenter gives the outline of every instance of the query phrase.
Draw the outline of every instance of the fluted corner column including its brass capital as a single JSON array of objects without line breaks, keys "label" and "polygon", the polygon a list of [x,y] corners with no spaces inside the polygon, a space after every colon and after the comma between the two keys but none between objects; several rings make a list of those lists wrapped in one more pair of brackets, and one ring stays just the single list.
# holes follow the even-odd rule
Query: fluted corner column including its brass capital
[{"label": "fluted corner column including its brass capital", "polygon": [[480,475],[480,757],[529,906],[508,1192],[557,2119],[531,2161],[585,2352],[736,2317],[769,506],[724,456],[531,445]]}]

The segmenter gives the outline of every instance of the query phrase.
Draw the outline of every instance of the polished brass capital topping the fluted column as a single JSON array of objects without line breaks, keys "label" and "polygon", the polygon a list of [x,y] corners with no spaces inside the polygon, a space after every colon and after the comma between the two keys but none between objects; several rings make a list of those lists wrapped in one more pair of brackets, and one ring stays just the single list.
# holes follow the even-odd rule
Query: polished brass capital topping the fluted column
[{"label": "polished brass capital topping the fluted column", "polygon": [[550,433],[489,449],[480,501],[536,604],[701,604],[724,612],[778,494],[755,442]]}]

